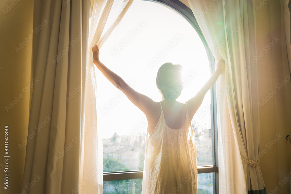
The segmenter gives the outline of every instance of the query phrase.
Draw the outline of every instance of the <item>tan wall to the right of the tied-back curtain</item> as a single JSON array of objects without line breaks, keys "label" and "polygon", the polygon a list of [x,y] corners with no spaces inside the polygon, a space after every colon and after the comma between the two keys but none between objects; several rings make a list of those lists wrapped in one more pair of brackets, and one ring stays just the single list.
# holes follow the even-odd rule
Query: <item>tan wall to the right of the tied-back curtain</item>
[{"label": "tan wall to the right of the tied-back curtain", "polygon": [[[260,168],[267,193],[290,193],[290,180],[281,181],[290,172],[290,147],[285,91],[290,90],[280,1],[256,0],[258,86],[260,104]],[[273,41],[273,42],[272,42]],[[273,95],[272,95],[273,94]],[[289,97],[290,99],[291,97]],[[263,153],[265,149],[265,153]]]}]

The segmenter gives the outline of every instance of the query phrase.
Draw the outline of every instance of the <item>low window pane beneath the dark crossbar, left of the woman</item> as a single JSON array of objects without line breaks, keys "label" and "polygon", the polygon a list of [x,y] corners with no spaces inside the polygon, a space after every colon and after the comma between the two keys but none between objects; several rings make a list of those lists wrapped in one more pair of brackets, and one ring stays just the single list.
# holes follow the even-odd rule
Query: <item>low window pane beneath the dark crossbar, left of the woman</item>
[{"label": "low window pane beneath the dark crossbar, left of the woman", "polygon": [[125,194],[141,193],[142,179],[127,179],[118,181],[103,181],[103,193]]}]

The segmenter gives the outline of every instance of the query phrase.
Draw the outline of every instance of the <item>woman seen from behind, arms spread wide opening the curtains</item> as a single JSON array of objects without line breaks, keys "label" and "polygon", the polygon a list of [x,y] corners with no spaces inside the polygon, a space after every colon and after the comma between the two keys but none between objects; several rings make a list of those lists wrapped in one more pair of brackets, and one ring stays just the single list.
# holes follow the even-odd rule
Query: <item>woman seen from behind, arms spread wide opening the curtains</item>
[{"label": "woman seen from behind, arms spread wide opening the curtains", "polygon": [[99,60],[97,45],[92,48],[93,63],[102,74],[121,90],[145,114],[148,135],[145,140],[145,164],[142,193],[197,193],[196,143],[191,120],[202,104],[204,96],[225,70],[224,60],[203,88],[185,104],[177,102],[183,89],[182,66],[163,64],[157,73],[157,87],[161,102],[136,92]]}]

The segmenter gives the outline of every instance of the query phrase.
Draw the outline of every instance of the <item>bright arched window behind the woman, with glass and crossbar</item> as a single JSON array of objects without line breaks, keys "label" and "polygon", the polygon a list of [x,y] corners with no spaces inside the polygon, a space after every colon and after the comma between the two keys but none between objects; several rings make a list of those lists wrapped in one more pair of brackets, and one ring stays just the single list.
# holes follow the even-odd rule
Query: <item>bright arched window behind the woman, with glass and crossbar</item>
[{"label": "bright arched window behind the woman, with glass and crossbar", "polygon": [[[184,68],[179,102],[193,97],[214,72],[211,55],[192,11],[178,0],[134,1],[100,49],[100,60],[132,88],[161,101],[156,86],[166,62]],[[194,115],[198,193],[218,193],[215,87]],[[97,76],[98,129],[103,131],[104,193],[141,193],[145,115],[100,73]]]}]

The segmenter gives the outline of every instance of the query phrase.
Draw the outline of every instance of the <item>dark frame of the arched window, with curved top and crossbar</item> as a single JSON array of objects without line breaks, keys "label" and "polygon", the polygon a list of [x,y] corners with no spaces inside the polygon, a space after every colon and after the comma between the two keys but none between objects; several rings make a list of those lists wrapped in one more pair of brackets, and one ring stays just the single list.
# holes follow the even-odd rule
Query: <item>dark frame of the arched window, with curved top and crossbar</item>
[{"label": "dark frame of the arched window, with curved top and crossbar", "polygon": [[[210,71],[213,74],[215,72],[215,59],[212,55],[210,48],[207,45],[207,42],[201,32],[200,27],[193,15],[193,12],[190,8],[188,8],[184,3],[179,0],[139,0],[139,1],[151,1],[154,3],[159,3],[169,8],[172,8],[180,15],[182,15],[189,24],[196,30],[200,39],[203,42],[203,45],[207,52],[207,57],[209,60]],[[218,180],[218,133],[217,133],[217,104],[216,104],[216,85],[210,89],[211,96],[211,130],[212,132],[212,152],[213,152],[213,160],[214,165],[206,165],[206,166],[198,166],[197,171],[198,174],[202,173],[214,173],[213,176],[213,193],[219,193],[219,180]],[[130,170],[130,171],[118,171],[118,172],[103,172],[103,181],[115,181],[115,180],[126,180],[126,179],[139,179],[143,177],[143,170]]]}]

